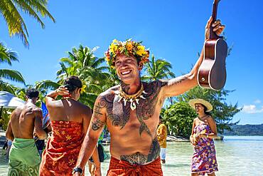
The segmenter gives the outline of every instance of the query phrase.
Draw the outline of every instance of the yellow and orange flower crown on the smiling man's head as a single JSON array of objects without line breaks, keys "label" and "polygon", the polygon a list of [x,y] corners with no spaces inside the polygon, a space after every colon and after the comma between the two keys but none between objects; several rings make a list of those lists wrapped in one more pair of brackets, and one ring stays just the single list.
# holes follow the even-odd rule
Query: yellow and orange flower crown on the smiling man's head
[{"label": "yellow and orange flower crown on the smiling man's head", "polygon": [[139,64],[149,62],[149,50],[146,50],[140,42],[128,39],[126,41],[117,41],[114,39],[105,53],[106,61],[111,68],[114,68],[115,58],[117,54],[124,53],[129,56],[132,54],[135,58],[139,58]]}]

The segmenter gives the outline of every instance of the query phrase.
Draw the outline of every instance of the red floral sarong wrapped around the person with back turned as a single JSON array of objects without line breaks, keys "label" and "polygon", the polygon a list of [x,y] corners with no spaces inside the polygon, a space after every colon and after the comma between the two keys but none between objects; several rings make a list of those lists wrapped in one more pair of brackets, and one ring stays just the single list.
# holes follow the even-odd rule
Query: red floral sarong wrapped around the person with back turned
[{"label": "red floral sarong wrapped around the person with back turned", "polygon": [[52,136],[42,155],[39,175],[72,175],[84,140],[82,123],[51,121]]}]

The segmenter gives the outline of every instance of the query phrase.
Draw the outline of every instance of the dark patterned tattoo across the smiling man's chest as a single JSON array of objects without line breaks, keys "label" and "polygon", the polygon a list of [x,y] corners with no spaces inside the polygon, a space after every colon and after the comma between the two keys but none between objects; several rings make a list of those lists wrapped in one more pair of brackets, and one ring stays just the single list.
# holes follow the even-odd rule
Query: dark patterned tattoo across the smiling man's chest
[{"label": "dark patterned tattoo across the smiling man's chest", "polygon": [[[154,81],[151,83],[143,83],[144,98],[139,99],[139,104],[134,111],[136,111],[136,118],[139,120],[140,128],[139,135],[144,131],[151,136],[151,132],[144,122],[148,120],[155,113],[156,104],[158,103],[158,95],[160,93],[161,87],[166,85],[163,81]],[[118,88],[114,89],[118,91]],[[107,117],[111,120],[111,123],[115,127],[120,127],[121,129],[127,124],[130,118],[131,108],[130,102],[124,105],[122,100],[119,100],[118,95],[114,93],[104,96],[104,101],[107,107]]]}]

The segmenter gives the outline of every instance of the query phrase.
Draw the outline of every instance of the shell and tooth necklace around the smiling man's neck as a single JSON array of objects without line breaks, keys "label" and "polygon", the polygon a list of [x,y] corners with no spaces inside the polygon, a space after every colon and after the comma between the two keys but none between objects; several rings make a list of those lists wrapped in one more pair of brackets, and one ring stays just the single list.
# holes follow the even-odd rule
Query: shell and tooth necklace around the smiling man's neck
[{"label": "shell and tooth necklace around the smiling man's neck", "polygon": [[136,104],[139,105],[139,98],[146,99],[144,98],[143,94],[147,94],[147,93],[144,91],[144,85],[142,83],[141,83],[141,89],[137,93],[134,93],[133,95],[128,95],[127,93],[124,93],[124,91],[122,90],[122,86],[119,86],[119,93],[117,93],[117,95],[119,96],[118,102],[123,100],[124,106],[126,106],[127,101],[129,101],[131,103],[130,108],[132,110],[135,110],[137,107]]}]

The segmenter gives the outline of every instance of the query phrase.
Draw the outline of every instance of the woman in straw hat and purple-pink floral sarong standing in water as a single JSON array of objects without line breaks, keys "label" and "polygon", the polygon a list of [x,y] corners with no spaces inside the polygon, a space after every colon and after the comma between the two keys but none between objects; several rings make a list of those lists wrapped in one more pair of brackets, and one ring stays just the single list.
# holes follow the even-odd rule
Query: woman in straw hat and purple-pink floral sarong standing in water
[{"label": "woman in straw hat and purple-pink floral sarong standing in water", "polygon": [[194,146],[191,175],[208,174],[213,176],[215,171],[218,171],[213,141],[213,138],[218,136],[218,131],[215,120],[207,113],[213,109],[213,106],[203,99],[190,100],[189,104],[198,113],[198,117],[193,120],[192,134],[190,135],[190,142]]}]

